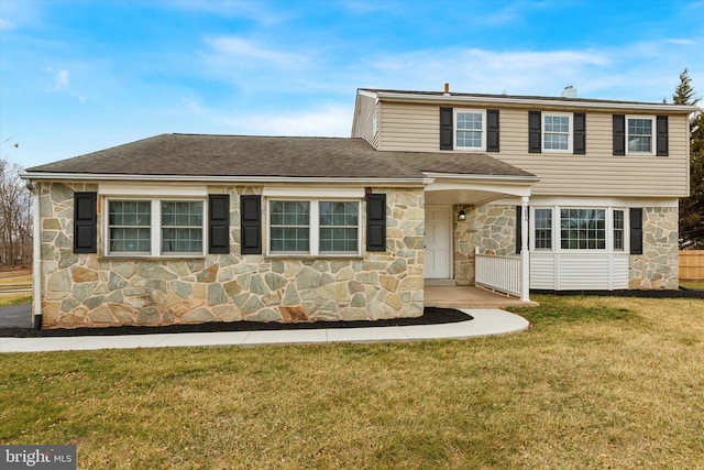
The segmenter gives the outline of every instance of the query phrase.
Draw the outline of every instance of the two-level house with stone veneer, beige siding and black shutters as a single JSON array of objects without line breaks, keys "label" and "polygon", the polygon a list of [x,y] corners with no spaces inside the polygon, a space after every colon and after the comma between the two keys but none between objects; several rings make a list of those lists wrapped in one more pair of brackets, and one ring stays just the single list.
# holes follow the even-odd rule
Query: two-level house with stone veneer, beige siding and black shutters
[{"label": "two-level house with stone veneer, beige siding and black shutters", "polygon": [[352,138],[29,168],[44,328],[420,316],[424,285],[678,288],[690,106],[359,89]]}]

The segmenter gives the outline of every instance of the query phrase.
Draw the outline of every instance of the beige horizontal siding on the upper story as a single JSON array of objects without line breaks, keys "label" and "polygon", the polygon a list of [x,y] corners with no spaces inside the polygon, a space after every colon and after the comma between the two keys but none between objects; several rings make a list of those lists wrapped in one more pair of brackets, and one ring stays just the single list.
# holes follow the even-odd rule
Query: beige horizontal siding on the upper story
[{"label": "beige horizontal siding on the upper story", "polygon": [[[365,97],[370,100],[373,98]],[[439,103],[394,102],[376,105],[378,136],[355,127],[354,136],[363,136],[381,151],[440,152]],[[689,195],[689,124],[686,114],[669,116],[669,155],[625,155],[613,153],[613,116],[616,113],[654,116],[656,112],[634,112],[624,109],[506,107],[490,105],[442,105],[457,108],[498,109],[501,151],[490,153],[540,177],[534,195],[552,196],[628,196],[684,197]],[[369,109],[369,107],[366,108]],[[528,111],[579,111],[586,113],[586,154],[529,153]],[[359,119],[359,118],[358,118]],[[359,122],[358,122],[359,124]],[[447,152],[447,151],[443,151]],[[450,151],[461,157],[463,151]]]}]

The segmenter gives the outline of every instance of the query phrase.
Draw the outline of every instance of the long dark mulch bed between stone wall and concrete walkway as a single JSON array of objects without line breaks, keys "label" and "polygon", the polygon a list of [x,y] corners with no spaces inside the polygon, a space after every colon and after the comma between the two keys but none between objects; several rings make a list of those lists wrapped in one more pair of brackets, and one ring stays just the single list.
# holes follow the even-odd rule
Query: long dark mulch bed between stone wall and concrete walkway
[{"label": "long dark mulch bed between stone wall and concrete walkway", "polygon": [[330,328],[365,328],[365,327],[398,327],[413,325],[455,324],[473,319],[471,315],[453,308],[426,307],[424,314],[417,318],[394,318],[391,320],[355,320],[355,321],[312,321],[298,324],[260,323],[260,321],[229,321],[199,325],[169,325],[163,327],[121,326],[107,328],[73,328],[73,329],[31,329],[31,328],[0,328],[0,337],[10,338],[44,338],[67,336],[121,336],[121,335],[158,335],[178,332],[217,332],[217,331],[262,331],[262,330],[295,330],[295,329],[330,329]]}]

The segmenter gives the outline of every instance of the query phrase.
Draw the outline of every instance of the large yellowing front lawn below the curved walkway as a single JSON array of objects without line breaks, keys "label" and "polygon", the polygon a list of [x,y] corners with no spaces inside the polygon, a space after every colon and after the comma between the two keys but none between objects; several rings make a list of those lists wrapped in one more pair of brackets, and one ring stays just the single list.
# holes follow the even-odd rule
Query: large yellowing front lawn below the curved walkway
[{"label": "large yellowing front lawn below the curved walkway", "polygon": [[540,296],[504,337],[0,354],[0,444],[79,468],[703,468],[702,300]]}]

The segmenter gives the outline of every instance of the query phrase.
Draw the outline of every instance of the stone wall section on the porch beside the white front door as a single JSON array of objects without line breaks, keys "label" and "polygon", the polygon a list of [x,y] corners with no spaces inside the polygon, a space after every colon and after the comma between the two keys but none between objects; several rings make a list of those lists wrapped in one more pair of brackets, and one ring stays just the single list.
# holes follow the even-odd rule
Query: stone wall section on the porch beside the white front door
[{"label": "stone wall section on the porch beside the white front door", "polygon": [[[460,206],[453,208],[453,214]],[[474,285],[474,249],[501,256],[516,252],[516,207],[485,204],[465,209],[466,220],[454,222],[454,282]]]}]

